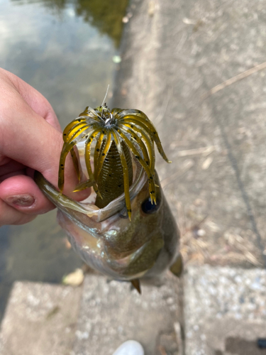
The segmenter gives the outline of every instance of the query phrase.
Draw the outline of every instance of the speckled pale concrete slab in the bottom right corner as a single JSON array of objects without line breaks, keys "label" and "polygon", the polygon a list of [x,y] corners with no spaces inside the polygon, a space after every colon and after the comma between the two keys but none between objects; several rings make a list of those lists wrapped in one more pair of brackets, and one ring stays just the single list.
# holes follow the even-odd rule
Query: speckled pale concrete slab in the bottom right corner
[{"label": "speckled pale concrete slab in the bottom right corner", "polygon": [[266,354],[266,271],[189,267],[184,319],[187,355]]}]

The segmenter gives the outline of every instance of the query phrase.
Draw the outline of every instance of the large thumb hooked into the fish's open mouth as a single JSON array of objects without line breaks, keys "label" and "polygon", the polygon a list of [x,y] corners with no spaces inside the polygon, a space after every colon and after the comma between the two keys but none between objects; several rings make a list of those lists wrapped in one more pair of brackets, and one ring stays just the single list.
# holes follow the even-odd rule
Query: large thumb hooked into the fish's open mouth
[{"label": "large thumb hooked into the fish's open mouth", "polygon": [[[3,96],[0,106],[1,153],[40,171],[57,186],[62,134],[36,114],[15,89],[4,92]],[[65,181],[64,192],[70,197],[82,200],[88,196],[86,190],[72,193],[78,180],[70,157],[66,162]]]}]

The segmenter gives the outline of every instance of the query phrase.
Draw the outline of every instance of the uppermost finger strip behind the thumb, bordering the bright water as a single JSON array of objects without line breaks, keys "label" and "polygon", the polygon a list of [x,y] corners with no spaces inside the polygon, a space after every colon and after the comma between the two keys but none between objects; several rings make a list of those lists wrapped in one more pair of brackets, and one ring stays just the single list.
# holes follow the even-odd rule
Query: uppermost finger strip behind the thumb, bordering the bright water
[{"label": "uppermost finger strip behind the thumb, bordering the bright water", "polygon": [[52,106],[45,97],[38,92],[38,90],[31,87],[23,80],[21,80],[16,75],[13,75],[7,70],[0,69],[1,75],[5,75],[10,82],[13,84],[13,87],[18,91],[18,93],[23,97],[26,103],[36,112],[36,114],[43,117],[49,124],[51,124],[57,131],[62,131],[60,124],[57,120],[55,111],[52,109]]}]

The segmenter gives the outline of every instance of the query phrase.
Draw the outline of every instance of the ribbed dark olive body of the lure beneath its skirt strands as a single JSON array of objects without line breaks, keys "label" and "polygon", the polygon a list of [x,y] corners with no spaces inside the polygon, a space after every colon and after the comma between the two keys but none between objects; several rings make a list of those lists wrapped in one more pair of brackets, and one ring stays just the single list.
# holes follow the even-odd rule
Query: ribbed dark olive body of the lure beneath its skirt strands
[{"label": "ribbed dark olive body of the lure beneath its skirt strands", "polygon": [[[103,146],[104,143],[101,145],[101,151]],[[121,146],[126,157],[126,164],[128,165],[128,180],[129,185],[131,186],[133,182],[131,152],[125,143],[122,142]],[[102,199],[99,196],[96,197],[95,204],[99,208],[106,207],[107,204],[115,200],[124,192],[123,167],[121,164],[120,155],[114,142],[111,143],[109,152],[104,159],[104,164],[97,179],[97,185],[102,197]]]}]

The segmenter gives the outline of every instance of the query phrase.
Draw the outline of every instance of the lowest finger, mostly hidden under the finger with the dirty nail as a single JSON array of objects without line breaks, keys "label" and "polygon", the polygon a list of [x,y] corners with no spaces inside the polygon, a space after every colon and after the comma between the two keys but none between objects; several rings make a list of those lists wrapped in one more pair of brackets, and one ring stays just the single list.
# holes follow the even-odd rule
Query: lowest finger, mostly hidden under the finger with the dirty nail
[{"label": "lowest finger, mostly hidden under the finger with the dirty nail", "polygon": [[5,224],[26,224],[35,219],[36,216],[24,214],[0,200],[0,226]]}]

